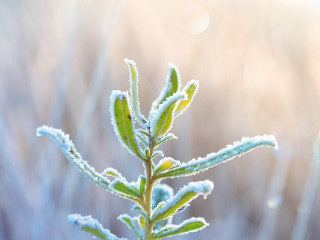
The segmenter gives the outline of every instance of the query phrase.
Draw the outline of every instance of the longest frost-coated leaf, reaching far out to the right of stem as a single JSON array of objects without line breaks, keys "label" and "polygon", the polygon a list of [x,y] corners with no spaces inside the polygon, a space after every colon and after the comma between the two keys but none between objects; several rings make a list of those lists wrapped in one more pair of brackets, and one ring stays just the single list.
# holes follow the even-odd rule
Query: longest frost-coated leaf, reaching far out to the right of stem
[{"label": "longest frost-coated leaf, reaching far out to the right of stem", "polygon": [[174,178],[181,176],[195,175],[199,172],[210,169],[222,162],[226,162],[235,157],[240,157],[244,153],[250,152],[257,147],[273,147],[278,149],[278,143],[273,135],[263,135],[255,137],[243,137],[241,141],[228,145],[217,153],[210,153],[204,158],[192,159],[187,163],[176,164],[171,169],[157,175],[157,179]]}]

